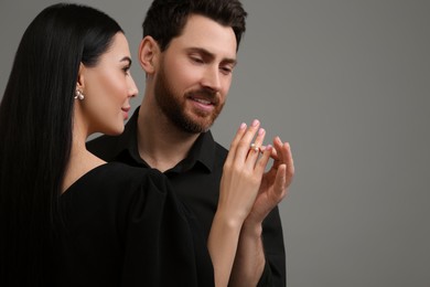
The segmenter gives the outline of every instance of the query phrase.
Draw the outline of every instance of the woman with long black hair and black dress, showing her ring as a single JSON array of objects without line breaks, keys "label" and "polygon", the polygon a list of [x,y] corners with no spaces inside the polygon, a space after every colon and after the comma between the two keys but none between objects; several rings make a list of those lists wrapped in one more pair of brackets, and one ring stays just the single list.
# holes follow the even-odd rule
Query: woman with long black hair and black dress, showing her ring
[{"label": "woman with long black hair and black dress, showing her ring", "polygon": [[[94,132],[122,131],[138,93],[130,65],[122,30],[95,9],[55,4],[26,29],[0,106],[0,286],[228,281],[161,173],[85,148]],[[248,149],[258,127],[241,125],[232,144],[211,236],[233,241],[213,244],[216,262],[234,261],[240,224],[223,226],[245,220],[271,153]]]}]

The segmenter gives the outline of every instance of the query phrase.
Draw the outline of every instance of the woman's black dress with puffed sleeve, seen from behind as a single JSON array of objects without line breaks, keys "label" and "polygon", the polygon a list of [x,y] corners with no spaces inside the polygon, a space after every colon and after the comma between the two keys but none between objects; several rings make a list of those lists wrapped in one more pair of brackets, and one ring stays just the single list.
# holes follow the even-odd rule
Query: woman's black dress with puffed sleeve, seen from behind
[{"label": "woman's black dress with puffed sleeve, seen from behind", "polygon": [[106,163],[60,204],[55,286],[214,286],[196,219],[159,171]]}]

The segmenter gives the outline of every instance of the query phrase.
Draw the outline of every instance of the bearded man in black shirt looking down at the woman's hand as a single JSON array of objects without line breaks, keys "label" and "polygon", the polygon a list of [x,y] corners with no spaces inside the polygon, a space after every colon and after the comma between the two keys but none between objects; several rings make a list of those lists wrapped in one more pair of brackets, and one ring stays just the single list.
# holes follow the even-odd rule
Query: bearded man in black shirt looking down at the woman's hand
[{"label": "bearded man in black shirt looking down at the woman's hand", "polygon": [[[142,104],[120,137],[103,136],[88,142],[88,149],[107,161],[164,172],[200,220],[205,238],[227,156],[209,127],[230,87],[246,15],[238,0],[154,0],[139,47],[147,74]],[[276,208],[284,192],[276,196],[270,192],[280,184],[277,172],[284,173],[288,187],[293,164],[288,144],[277,138],[273,145],[284,152],[280,158],[273,155],[273,167],[260,188],[266,195],[260,194],[243,225],[232,285],[286,286],[282,227]],[[281,168],[282,163],[289,164]]]}]

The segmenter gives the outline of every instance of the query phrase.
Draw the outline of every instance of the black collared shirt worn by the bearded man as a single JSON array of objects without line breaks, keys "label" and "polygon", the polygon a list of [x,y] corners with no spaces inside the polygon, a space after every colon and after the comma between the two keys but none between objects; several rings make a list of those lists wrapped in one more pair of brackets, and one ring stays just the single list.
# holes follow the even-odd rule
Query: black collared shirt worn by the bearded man
[{"label": "black collared shirt worn by the bearded man", "polygon": [[[137,120],[139,108],[118,137],[101,136],[87,148],[106,161],[121,161],[135,167],[149,167],[139,156]],[[174,144],[172,144],[174,146]],[[185,159],[164,174],[170,179],[179,199],[195,214],[208,237],[218,202],[219,182],[228,151],[217,144],[211,131],[200,135]],[[276,208],[262,224],[262,238],[267,265],[260,285],[286,286],[286,254],[279,210]],[[271,284],[270,284],[271,285]]]}]

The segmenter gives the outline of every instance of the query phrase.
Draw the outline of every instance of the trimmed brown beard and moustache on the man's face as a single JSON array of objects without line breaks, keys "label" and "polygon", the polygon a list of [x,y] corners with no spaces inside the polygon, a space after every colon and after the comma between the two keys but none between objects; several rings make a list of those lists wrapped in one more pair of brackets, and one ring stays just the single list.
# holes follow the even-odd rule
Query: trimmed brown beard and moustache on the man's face
[{"label": "trimmed brown beard and moustache on the man's face", "polygon": [[[178,128],[190,134],[200,134],[207,131],[221,114],[224,103],[219,102],[217,93],[201,88],[187,92],[185,95],[175,93],[164,72],[164,62],[161,61],[158,78],[154,84],[155,102],[162,113]],[[193,114],[186,114],[186,99],[194,94],[204,95],[214,105],[211,114],[202,110],[195,110]]]}]

